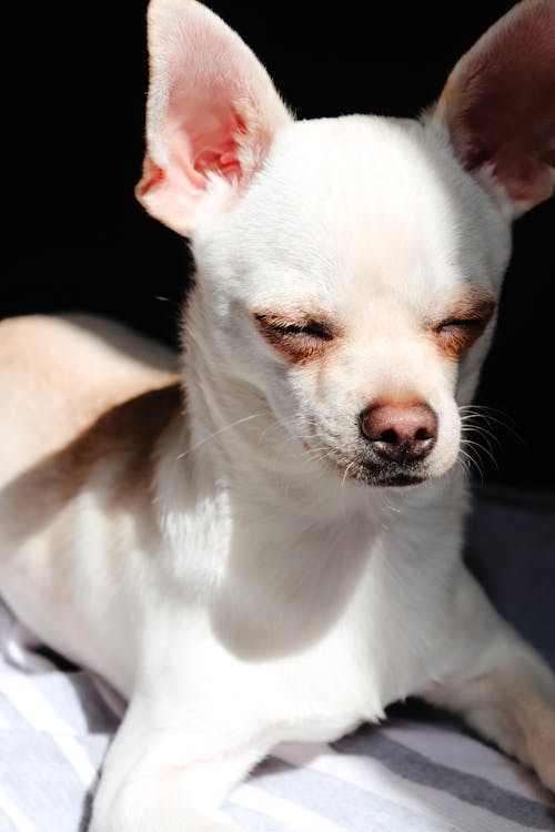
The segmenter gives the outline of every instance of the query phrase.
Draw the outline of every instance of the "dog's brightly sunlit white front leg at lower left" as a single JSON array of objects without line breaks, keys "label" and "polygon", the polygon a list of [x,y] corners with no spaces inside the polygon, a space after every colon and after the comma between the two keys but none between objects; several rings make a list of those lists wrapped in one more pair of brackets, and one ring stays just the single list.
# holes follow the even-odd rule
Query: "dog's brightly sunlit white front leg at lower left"
[{"label": "dog's brightly sunlit white front leg at lower left", "polygon": [[[265,749],[190,726],[158,724],[134,701],[107,755],[90,832],[238,832],[218,805]],[[235,738],[236,741],[236,738]]]}]

